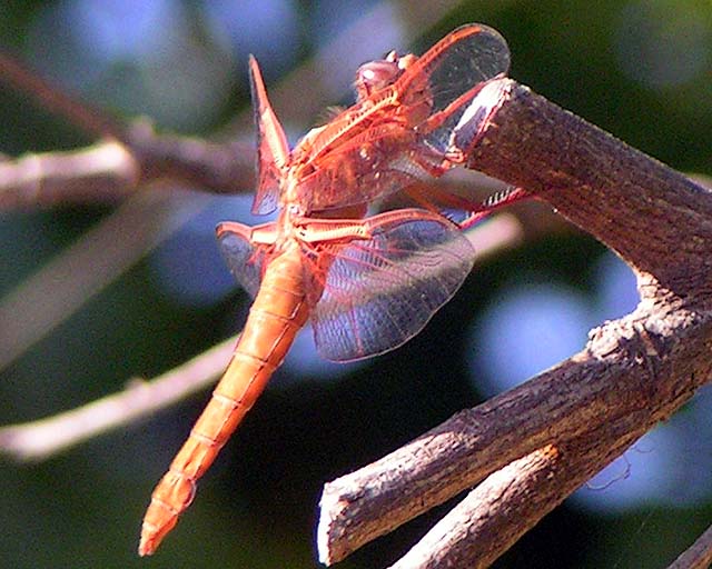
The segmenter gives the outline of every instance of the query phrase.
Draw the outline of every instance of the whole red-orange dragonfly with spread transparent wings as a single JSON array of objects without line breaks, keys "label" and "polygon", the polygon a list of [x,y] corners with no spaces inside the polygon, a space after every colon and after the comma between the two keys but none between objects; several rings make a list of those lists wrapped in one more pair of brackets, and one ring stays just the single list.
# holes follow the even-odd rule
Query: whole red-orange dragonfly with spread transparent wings
[{"label": "whole red-orange dragonfly with spread transparent wings", "polygon": [[[504,39],[476,24],[421,58],[390,53],[359,69],[354,107],[290,151],[250,58],[258,131],[253,210],[279,207],[279,216],[253,228],[217,228],[230,269],[255,300],[212,398],[154,490],[139,555],[151,555],[175,527],[308,319],[325,358],[367,358],[418,333],[459,288],[473,250],[456,223],[435,207],[373,217],[366,210],[462,162],[483,120],[473,99],[507,66]],[[482,217],[473,209],[473,219]]]}]

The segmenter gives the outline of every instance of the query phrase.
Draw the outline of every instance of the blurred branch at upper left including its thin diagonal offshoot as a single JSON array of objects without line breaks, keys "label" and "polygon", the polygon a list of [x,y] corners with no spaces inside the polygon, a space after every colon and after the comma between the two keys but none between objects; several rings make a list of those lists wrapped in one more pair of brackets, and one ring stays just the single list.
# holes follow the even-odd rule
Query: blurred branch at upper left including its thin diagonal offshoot
[{"label": "blurred branch at upper left including its thin diagonal offshoot", "polygon": [[29,154],[0,170],[0,208],[118,200],[141,183],[172,181],[218,193],[251,191],[254,144],[157,134],[129,126],[69,96],[0,52],[0,80],[105,142],[71,152]]}]

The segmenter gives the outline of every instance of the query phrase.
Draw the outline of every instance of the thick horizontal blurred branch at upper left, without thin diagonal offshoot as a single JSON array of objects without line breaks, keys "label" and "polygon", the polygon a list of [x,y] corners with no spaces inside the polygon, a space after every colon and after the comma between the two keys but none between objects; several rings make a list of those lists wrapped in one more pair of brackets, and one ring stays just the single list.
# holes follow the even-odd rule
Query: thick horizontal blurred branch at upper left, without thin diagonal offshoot
[{"label": "thick horizontal blurred branch at upper left, without thin diagonal offshoot", "polygon": [[154,189],[244,193],[251,191],[254,158],[249,143],[157,134],[137,121],[123,146],[106,141],[0,162],[0,210],[119,201],[151,182],[165,182]]}]

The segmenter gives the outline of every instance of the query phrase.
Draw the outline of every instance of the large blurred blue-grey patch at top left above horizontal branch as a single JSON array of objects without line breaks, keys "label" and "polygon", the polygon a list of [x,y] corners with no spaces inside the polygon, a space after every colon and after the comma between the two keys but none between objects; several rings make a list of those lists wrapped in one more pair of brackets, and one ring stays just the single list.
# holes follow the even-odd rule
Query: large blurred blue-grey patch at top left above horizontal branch
[{"label": "large blurred blue-grey patch at top left above horizontal branch", "polygon": [[39,11],[28,47],[42,74],[95,104],[192,130],[227,102],[235,64],[190,18],[176,0],[63,0]]}]

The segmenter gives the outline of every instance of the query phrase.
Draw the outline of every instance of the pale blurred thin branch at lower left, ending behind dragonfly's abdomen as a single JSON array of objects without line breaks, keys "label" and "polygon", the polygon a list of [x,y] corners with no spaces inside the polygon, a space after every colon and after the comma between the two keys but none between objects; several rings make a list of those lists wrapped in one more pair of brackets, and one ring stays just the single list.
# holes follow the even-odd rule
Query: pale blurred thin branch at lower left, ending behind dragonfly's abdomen
[{"label": "pale blurred thin branch at lower left, ending behind dragonfly's abdomen", "polygon": [[205,389],[224,371],[237,338],[229,338],[150,381],[55,417],[0,428],[0,453],[42,460],[73,445],[152,415]]}]

